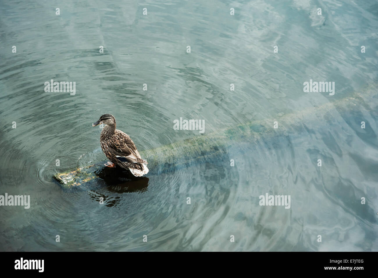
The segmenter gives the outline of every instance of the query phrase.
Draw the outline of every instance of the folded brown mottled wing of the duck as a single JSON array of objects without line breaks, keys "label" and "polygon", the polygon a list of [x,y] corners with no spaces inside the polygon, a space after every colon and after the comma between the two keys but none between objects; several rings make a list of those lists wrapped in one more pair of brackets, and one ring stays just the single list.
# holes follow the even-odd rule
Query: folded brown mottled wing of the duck
[{"label": "folded brown mottled wing of the duck", "polygon": [[133,140],[124,132],[116,132],[114,140],[108,143],[108,154],[113,162],[147,163],[142,159]]}]

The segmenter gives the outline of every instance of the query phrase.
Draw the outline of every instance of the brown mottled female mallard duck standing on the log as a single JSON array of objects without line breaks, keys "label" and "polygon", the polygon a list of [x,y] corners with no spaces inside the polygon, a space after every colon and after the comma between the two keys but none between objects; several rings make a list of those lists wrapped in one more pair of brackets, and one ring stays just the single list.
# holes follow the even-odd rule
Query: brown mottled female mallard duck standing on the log
[{"label": "brown mottled female mallard duck standing on the log", "polygon": [[113,115],[105,114],[100,117],[92,126],[106,124],[100,135],[101,149],[106,157],[111,161],[105,164],[108,167],[119,165],[124,169],[129,169],[136,177],[141,177],[148,173],[148,164],[141,158],[133,140],[129,135],[116,129],[116,119]]}]

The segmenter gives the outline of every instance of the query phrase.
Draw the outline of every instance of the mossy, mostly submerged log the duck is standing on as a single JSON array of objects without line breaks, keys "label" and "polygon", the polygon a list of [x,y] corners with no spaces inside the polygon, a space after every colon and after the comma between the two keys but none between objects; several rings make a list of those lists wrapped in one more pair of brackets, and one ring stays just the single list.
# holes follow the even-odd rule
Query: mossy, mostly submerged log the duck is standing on
[{"label": "mossy, mostly submerged log the duck is standing on", "polygon": [[[347,123],[356,121],[356,118],[361,118],[362,121],[362,111],[371,112],[377,104],[377,86],[373,84],[344,98],[330,97],[330,102],[317,107],[277,115],[275,118],[252,121],[209,134],[200,134],[155,149],[140,151],[140,153],[149,162],[150,172],[147,176],[156,175],[171,169],[186,167],[192,163],[198,164],[219,158],[225,160],[227,150],[235,146],[243,152],[246,149],[253,149],[253,146],[259,143],[277,142],[278,144],[283,137],[299,135],[307,132],[308,128],[329,129],[341,118]],[[277,129],[273,128],[275,121],[279,125]],[[351,126],[357,126],[357,124],[359,123],[351,124]],[[96,183],[96,178],[114,171],[114,168],[105,167],[103,164],[105,162],[57,173],[54,178],[64,188],[91,188],[95,186],[93,184]]]}]

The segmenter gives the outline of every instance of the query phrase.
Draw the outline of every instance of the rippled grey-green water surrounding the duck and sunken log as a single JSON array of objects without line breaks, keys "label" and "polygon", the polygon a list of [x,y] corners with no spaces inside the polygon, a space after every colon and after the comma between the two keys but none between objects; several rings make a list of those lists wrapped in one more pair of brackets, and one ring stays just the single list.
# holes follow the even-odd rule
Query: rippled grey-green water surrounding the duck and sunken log
[{"label": "rippled grey-green water surrounding the duck and sunken log", "polygon": [[[377,14],[376,1],[1,1],[0,194],[31,198],[0,208],[1,250],[378,251],[376,90],[353,113],[333,106],[378,81]],[[46,93],[51,79],[76,94]],[[310,79],[335,95],[304,93]],[[164,171],[162,154],[142,179],[70,191],[52,178],[105,160],[91,127],[104,113],[147,151],[324,104],[212,158]],[[174,130],[180,117],[204,134]],[[290,209],[260,206],[265,193]]]}]

